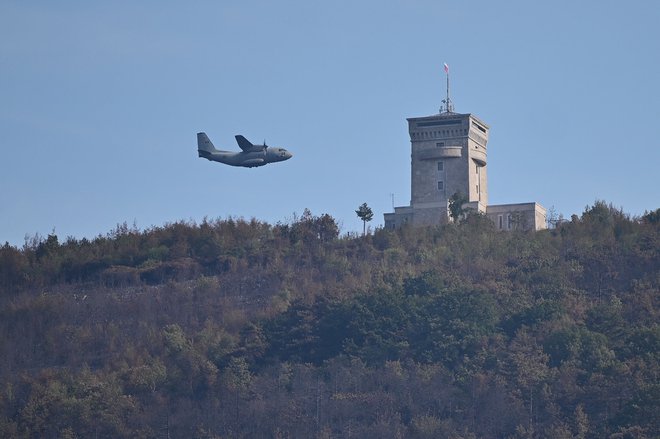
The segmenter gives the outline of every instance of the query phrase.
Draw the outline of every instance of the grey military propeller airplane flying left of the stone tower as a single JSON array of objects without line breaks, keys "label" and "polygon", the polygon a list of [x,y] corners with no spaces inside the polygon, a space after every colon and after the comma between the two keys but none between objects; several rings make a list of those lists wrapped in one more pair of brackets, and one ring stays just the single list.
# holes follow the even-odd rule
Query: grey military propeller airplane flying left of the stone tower
[{"label": "grey military propeller airplane flying left of the stone tower", "polygon": [[293,154],[284,148],[275,148],[266,145],[265,141],[263,145],[253,145],[241,135],[236,136],[236,142],[243,151],[221,151],[215,149],[206,133],[197,133],[197,153],[199,157],[204,157],[207,160],[246,168],[282,162],[293,156]]}]

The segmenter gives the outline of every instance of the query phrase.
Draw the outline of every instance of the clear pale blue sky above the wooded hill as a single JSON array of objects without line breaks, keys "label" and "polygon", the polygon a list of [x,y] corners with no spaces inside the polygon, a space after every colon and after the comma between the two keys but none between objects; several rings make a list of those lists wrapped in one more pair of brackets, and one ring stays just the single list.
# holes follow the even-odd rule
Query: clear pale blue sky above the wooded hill
[{"label": "clear pale blue sky above the wooded hill", "polygon": [[[660,207],[660,2],[0,2],[0,243],[410,202],[407,117],[489,124],[492,204]],[[232,168],[195,134],[294,157]]]}]

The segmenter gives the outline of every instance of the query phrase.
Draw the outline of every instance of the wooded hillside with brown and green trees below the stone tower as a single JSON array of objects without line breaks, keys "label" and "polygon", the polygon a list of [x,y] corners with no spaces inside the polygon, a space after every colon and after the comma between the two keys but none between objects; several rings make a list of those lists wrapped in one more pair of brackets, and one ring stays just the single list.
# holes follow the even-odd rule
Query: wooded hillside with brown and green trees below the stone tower
[{"label": "wooded hillside with brown and green trees below the stone tower", "polygon": [[0,437],[660,437],[660,211],[0,247]]}]

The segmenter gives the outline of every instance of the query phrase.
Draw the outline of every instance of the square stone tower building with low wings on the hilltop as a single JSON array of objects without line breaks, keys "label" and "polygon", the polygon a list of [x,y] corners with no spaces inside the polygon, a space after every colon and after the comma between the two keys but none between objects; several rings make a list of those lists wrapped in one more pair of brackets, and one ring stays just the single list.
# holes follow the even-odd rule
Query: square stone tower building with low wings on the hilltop
[{"label": "square stone tower building with low wings on the hilltop", "polygon": [[546,227],[538,203],[488,205],[488,130],[473,114],[453,112],[447,87],[446,110],[408,119],[411,143],[410,206],[386,213],[385,228],[426,226],[450,221],[449,199],[467,197],[465,209],[485,214],[500,230]]}]

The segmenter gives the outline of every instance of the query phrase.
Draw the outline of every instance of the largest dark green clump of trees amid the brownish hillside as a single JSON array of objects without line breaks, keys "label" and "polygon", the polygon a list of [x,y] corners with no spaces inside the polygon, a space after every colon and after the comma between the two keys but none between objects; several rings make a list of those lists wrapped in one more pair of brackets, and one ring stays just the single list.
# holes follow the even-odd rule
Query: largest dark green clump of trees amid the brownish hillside
[{"label": "largest dark green clump of trees amid the brownish hillside", "polygon": [[[428,275],[426,275],[428,276]],[[476,292],[429,293],[421,279],[397,290],[359,294],[350,300],[300,301],[264,323],[269,357],[316,363],[338,354],[383,364],[410,358],[453,365],[474,355],[498,321],[496,305]]]}]

